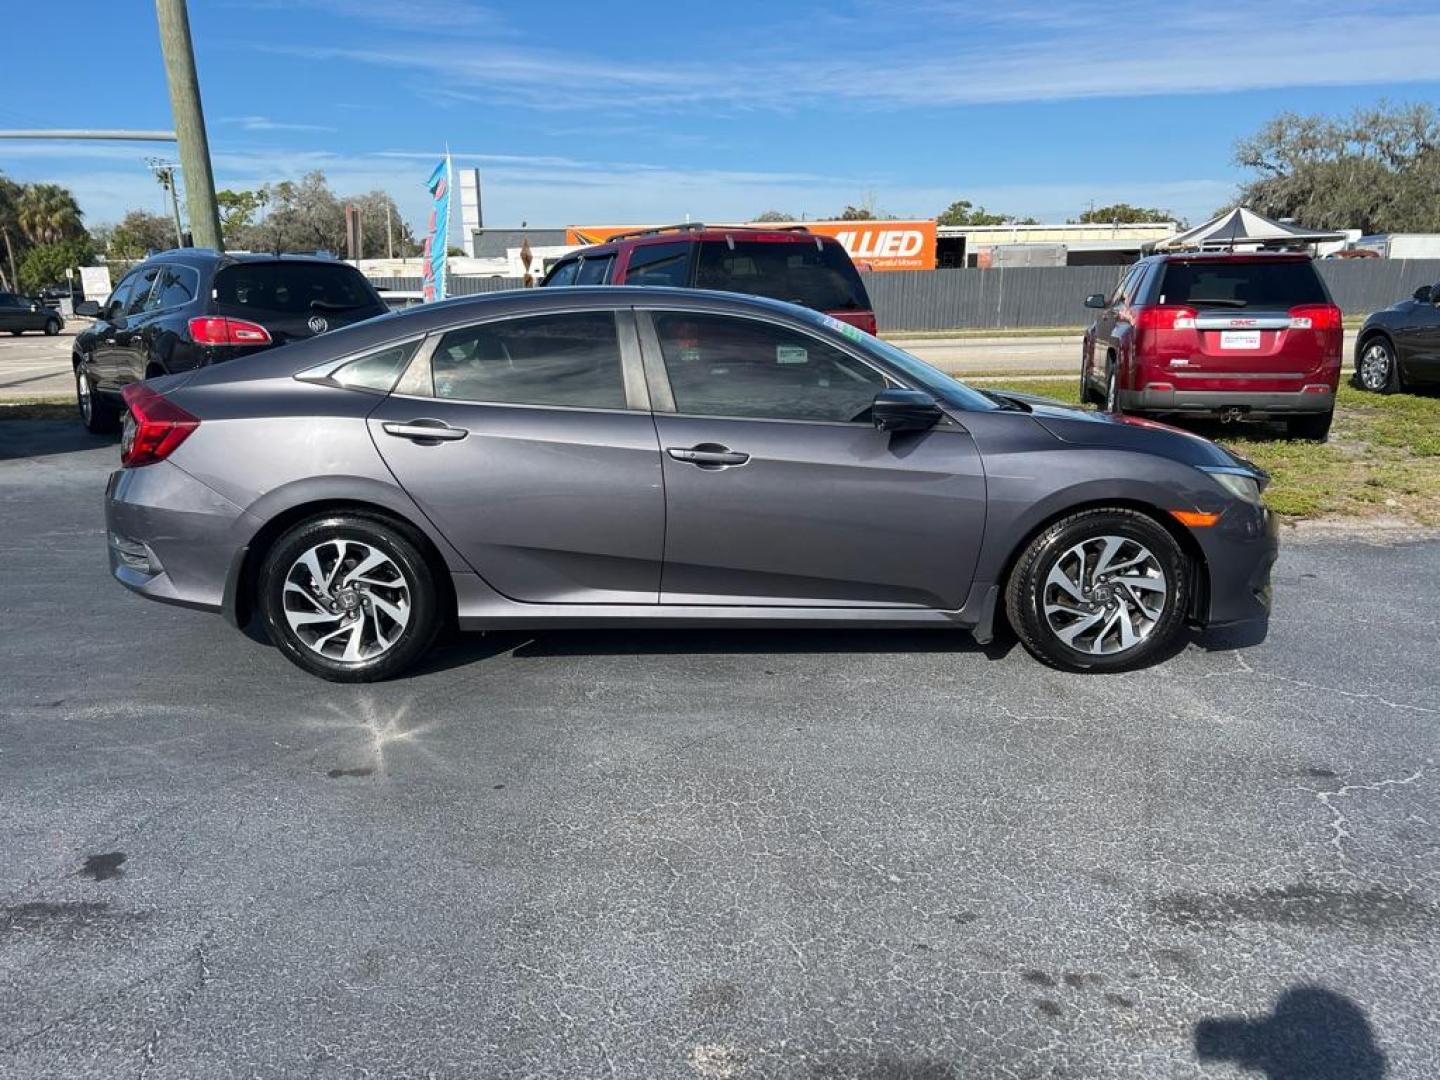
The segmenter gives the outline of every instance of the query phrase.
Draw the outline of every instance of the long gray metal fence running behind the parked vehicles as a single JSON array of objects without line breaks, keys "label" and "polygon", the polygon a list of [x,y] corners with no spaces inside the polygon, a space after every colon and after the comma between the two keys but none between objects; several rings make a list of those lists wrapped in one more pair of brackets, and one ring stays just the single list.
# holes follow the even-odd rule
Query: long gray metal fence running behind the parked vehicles
[{"label": "long gray metal fence running behind the parked vehicles", "polygon": [[[1322,259],[1315,264],[1346,315],[1362,315],[1440,282],[1440,259]],[[1115,288],[1123,266],[1011,266],[863,274],[884,330],[1077,327],[1084,298]],[[419,278],[376,278],[380,288],[419,291]],[[451,295],[521,287],[520,278],[449,278]]]}]

